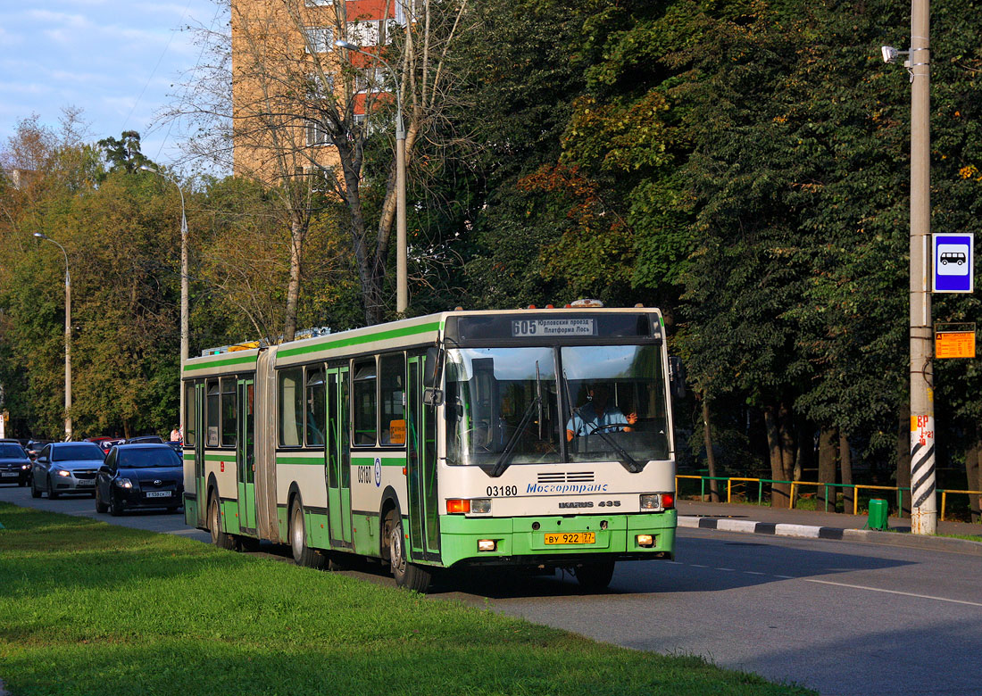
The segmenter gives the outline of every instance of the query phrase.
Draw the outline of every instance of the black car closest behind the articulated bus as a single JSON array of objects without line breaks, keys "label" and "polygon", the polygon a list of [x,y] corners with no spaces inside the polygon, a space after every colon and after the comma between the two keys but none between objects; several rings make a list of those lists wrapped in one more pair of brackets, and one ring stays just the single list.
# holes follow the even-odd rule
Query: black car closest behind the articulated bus
[{"label": "black car closest behind the articulated bus", "polygon": [[95,482],[95,511],[183,505],[184,462],[164,444],[117,445],[109,451]]}]

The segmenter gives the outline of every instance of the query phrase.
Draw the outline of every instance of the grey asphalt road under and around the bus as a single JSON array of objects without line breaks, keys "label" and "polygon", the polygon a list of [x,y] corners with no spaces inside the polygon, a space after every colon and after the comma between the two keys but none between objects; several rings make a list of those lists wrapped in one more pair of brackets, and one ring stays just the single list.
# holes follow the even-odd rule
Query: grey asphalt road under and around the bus
[{"label": "grey asphalt road under and around the bus", "polygon": [[[207,541],[183,515],[96,514],[90,498],[0,500]],[[822,694],[982,694],[982,562],[844,541],[680,529],[677,562],[618,565],[609,592],[573,578],[450,578],[433,596],[618,645],[699,655]],[[287,553],[263,545],[263,555]],[[367,566],[357,577],[391,584]]]}]

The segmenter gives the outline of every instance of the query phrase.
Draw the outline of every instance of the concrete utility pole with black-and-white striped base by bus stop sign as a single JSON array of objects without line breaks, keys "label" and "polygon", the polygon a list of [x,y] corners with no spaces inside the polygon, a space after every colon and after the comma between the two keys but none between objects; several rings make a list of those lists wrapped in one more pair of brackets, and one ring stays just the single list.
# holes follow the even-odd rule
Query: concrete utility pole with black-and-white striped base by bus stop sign
[{"label": "concrete utility pole with black-and-white striped base by bus stop sign", "polygon": [[910,8],[910,531],[934,534],[934,331],[931,324],[929,0]]}]

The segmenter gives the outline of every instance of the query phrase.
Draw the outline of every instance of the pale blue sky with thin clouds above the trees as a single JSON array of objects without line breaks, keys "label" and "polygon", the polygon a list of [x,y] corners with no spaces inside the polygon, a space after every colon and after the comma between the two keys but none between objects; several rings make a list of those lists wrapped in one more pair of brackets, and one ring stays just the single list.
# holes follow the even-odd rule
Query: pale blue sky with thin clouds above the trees
[{"label": "pale blue sky with thin clouds above the trees", "polygon": [[57,131],[75,107],[87,140],[137,131],[143,154],[171,164],[178,128],[150,125],[198,63],[183,29],[217,13],[212,0],[0,0],[0,147],[32,114]]}]

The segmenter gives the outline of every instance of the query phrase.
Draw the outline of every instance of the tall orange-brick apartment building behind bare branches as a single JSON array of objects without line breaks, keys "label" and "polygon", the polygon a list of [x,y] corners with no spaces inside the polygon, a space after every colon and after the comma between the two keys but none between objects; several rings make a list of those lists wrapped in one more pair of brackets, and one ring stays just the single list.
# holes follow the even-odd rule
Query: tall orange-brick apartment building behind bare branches
[{"label": "tall orange-brick apartment building behind bare branches", "polygon": [[[400,0],[232,0],[234,170],[275,183],[338,164],[332,115],[352,122],[378,98],[375,61],[335,47],[337,39],[367,53],[404,26]],[[341,61],[359,69],[348,84]]]}]

